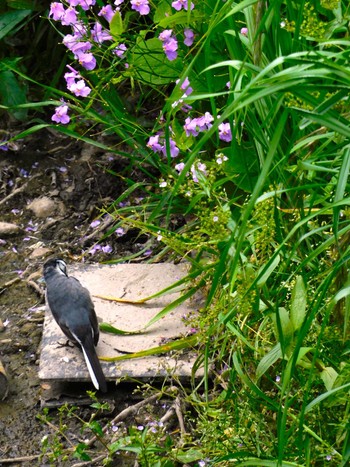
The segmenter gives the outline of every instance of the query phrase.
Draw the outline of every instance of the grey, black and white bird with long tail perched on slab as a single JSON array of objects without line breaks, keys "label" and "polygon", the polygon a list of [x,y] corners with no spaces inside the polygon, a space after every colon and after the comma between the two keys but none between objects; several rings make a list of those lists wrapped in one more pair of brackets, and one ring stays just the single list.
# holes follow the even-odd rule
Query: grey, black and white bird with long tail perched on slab
[{"label": "grey, black and white bird with long tail perched on slab", "polygon": [[106,392],[106,379],[95,350],[100,333],[89,291],[78,279],[68,277],[63,259],[46,261],[44,279],[53,317],[68,339],[81,347],[95,388]]}]

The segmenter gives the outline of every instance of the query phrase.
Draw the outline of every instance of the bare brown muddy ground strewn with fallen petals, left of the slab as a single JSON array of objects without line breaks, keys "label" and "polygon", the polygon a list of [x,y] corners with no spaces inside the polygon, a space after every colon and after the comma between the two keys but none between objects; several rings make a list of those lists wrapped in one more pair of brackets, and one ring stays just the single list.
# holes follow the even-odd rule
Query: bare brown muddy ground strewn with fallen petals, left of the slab
[{"label": "bare brown muddy ground strewn with fallen petals, left of the slab", "polygon": [[[9,393],[0,402],[0,465],[49,465],[47,457],[38,456],[44,437],[55,433],[59,425],[57,409],[50,410],[51,426],[37,418],[42,414],[38,361],[44,316],[43,262],[51,255],[68,263],[108,261],[135,253],[148,240],[135,232],[113,234],[101,243],[108,246],[105,251],[93,248],[103,231],[98,233],[100,226],[91,223],[98,219],[101,207],[126,189],[122,179],[108,170],[124,173],[127,166],[126,158],[52,130],[0,151],[0,221],[14,225],[13,231],[0,234],[0,361],[9,380]],[[133,171],[140,181],[142,173]],[[103,423],[140,400],[140,393],[132,395],[134,389],[118,387]],[[81,407],[78,414],[88,420],[91,410]],[[137,412],[128,423],[140,423],[140,416],[142,412]],[[73,442],[91,437],[91,433],[81,434],[81,423],[75,418],[66,418],[65,423]],[[74,464],[57,460],[53,465]],[[113,465],[130,465],[130,461],[117,456]]]}]

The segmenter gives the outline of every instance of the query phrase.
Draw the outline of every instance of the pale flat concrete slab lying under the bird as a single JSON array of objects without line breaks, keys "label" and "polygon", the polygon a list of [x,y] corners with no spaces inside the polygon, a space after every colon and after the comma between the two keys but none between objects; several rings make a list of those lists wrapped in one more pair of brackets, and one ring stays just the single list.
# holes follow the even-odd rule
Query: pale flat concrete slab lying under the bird
[{"label": "pale flat concrete slab lying under the bird", "polygon": [[[165,295],[143,305],[109,302],[94,297],[95,294],[139,300],[153,295],[184,277],[185,264],[118,264],[118,265],[70,265],[68,274],[76,277],[91,293],[99,321],[125,331],[142,329],[148,321],[180,293]],[[97,347],[99,356],[122,355],[118,350],[137,352],[156,347],[164,339],[178,339],[188,333],[182,317],[201,306],[199,296],[179,305],[163,319],[150,327],[146,333],[131,336],[100,334]],[[82,353],[76,347],[60,346],[66,338],[51,313],[46,310],[39,377],[45,382],[90,381]],[[117,363],[102,362],[108,381],[125,376],[137,380],[164,378],[173,374],[182,381],[191,378],[195,360],[193,353],[185,352],[180,357],[171,355],[151,356]]]}]

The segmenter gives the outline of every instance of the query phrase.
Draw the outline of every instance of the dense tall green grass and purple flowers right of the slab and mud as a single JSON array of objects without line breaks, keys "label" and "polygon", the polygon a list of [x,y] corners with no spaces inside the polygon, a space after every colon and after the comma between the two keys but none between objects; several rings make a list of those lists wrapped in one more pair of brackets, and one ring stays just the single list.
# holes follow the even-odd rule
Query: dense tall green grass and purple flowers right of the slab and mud
[{"label": "dense tall green grass and purple flowers right of the slab and mud", "polygon": [[149,179],[107,209],[115,228],[186,259],[184,296],[206,294],[189,317],[198,465],[347,465],[347,3],[82,0],[49,16],[71,28],[72,64],[62,102],[40,105],[71,136],[116,135]]}]

